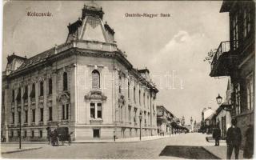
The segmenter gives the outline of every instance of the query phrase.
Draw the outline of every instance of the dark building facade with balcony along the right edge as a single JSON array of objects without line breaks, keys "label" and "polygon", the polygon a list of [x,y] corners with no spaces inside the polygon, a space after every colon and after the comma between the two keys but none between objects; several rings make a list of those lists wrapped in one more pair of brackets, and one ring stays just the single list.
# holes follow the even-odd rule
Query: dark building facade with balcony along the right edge
[{"label": "dark building facade with balcony along the right edge", "polygon": [[221,42],[211,62],[211,77],[229,76],[233,87],[232,118],[242,130],[242,146],[247,124],[254,126],[255,88],[255,3],[222,2],[220,12],[230,15],[230,41]]}]

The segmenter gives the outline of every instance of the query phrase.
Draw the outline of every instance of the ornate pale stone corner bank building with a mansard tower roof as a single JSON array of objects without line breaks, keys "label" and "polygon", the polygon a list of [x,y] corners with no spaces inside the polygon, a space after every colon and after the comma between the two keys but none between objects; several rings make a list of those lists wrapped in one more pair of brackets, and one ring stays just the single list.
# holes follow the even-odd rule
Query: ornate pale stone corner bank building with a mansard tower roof
[{"label": "ornate pale stone corner bank building with a mansard tower roof", "polygon": [[[102,22],[84,6],[66,42],[34,57],[11,54],[2,74],[2,137],[46,141],[47,127],[67,126],[73,140],[157,134],[150,71],[134,69]],[[20,130],[21,122],[21,130]]]}]

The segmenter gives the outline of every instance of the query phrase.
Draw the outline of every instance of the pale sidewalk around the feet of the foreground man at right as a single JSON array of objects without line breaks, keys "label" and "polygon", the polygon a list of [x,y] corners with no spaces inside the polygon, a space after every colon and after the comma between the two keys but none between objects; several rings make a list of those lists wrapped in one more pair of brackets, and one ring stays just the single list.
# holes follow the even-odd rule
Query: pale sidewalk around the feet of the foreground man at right
[{"label": "pale sidewalk around the feet of the foreground man at right", "polygon": [[[210,152],[210,154],[214,154],[218,158],[226,159],[226,146],[202,146],[205,150]],[[243,151],[239,152],[239,159],[243,159]],[[234,159],[234,150],[231,159]]]}]

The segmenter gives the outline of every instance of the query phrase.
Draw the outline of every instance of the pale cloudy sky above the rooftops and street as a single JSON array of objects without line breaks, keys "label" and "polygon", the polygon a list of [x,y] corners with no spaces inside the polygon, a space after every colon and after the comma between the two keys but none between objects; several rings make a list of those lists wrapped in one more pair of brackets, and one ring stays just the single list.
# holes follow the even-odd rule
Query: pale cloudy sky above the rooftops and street
[{"label": "pale cloudy sky above the rooftops and street", "polygon": [[[2,70],[12,53],[30,58],[66,41],[67,25],[82,14],[87,2],[4,2]],[[226,97],[227,78],[211,78],[207,52],[229,40],[229,15],[219,13],[221,1],[96,2],[103,22],[114,28],[118,48],[134,68],[147,68],[159,93],[157,104],[176,117],[201,121],[204,107],[216,110],[216,97]],[[30,17],[27,12],[49,12]],[[158,14],[155,18],[126,14]],[[170,17],[160,17],[160,14]]]}]

